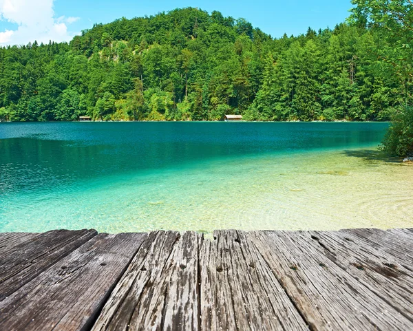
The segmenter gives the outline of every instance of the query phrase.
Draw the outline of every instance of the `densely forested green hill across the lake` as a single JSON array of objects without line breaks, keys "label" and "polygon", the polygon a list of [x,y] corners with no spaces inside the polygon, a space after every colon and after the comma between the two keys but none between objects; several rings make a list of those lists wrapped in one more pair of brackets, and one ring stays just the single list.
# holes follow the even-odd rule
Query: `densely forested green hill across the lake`
[{"label": "densely forested green hill across the lake", "polygon": [[[277,22],[274,22],[277,24]],[[381,32],[273,39],[195,8],[0,49],[0,120],[388,120],[403,98]]]}]

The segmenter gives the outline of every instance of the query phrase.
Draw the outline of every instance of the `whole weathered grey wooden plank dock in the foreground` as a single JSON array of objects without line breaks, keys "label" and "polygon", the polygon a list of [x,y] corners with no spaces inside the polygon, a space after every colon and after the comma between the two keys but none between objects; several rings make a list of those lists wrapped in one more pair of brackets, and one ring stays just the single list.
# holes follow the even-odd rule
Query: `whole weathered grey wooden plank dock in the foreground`
[{"label": "whole weathered grey wooden plank dock in the foreground", "polygon": [[0,233],[0,330],[413,330],[413,230]]}]

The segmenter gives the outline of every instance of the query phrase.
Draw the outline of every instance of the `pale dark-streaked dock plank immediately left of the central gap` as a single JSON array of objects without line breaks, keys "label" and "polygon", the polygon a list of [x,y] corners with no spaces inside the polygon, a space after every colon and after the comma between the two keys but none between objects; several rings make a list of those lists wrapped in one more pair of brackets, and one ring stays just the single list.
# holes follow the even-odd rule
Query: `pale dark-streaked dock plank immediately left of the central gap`
[{"label": "pale dark-streaked dock plank immediately left of the central gap", "polygon": [[198,330],[197,268],[198,235],[150,233],[92,330]]}]

